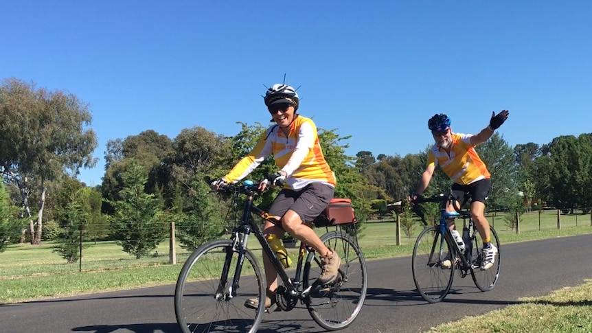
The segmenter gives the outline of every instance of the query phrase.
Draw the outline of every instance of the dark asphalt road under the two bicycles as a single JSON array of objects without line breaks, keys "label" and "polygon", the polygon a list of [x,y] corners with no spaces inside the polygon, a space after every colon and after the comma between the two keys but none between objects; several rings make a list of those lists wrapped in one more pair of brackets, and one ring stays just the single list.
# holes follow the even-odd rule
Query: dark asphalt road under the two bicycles
[{"label": "dark asphalt road under the two bicycles", "polygon": [[[451,294],[426,303],[411,276],[411,257],[368,262],[368,295],[358,318],[340,332],[423,332],[429,328],[546,295],[592,277],[592,235],[501,246],[494,290],[481,292],[470,276],[455,276]],[[179,267],[180,269],[180,267]],[[0,306],[0,332],[180,332],[174,286]],[[259,332],[324,332],[305,308],[265,314]]]}]

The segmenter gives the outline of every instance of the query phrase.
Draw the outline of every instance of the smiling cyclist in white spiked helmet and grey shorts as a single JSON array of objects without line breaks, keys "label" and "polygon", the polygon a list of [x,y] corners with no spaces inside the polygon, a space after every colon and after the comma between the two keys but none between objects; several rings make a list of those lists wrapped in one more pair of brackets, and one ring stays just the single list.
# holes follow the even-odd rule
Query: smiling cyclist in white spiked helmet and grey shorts
[{"label": "smiling cyclist in white spiked helmet and grey shorts", "polygon": [[[335,175],[321,151],[317,126],[312,119],[296,113],[299,97],[295,89],[274,84],[266,91],[264,102],[275,124],[262,133],[255,148],[228,174],[212,183],[212,188],[244,179],[273,154],[280,171],[267,179],[273,185],[284,187],[273,201],[269,214],[277,216],[280,221],[275,224],[267,221],[263,233],[268,238],[270,235],[281,238],[285,230],[312,246],[321,257],[319,282],[328,284],[337,277],[341,259],[303,222],[311,222],[329,205],[336,185]],[[266,185],[262,183],[260,190],[265,190]],[[268,288],[265,307],[269,308],[275,302],[277,272],[265,253],[263,264]],[[244,306],[256,309],[258,299],[248,299]]]}]

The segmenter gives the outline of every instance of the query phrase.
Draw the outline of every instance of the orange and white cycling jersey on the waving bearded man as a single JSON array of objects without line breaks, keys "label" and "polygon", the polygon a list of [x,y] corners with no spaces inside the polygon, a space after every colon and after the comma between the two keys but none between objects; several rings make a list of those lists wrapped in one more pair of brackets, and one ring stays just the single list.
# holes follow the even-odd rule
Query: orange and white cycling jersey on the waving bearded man
[{"label": "orange and white cycling jersey on the waving bearded man", "polygon": [[473,135],[451,133],[451,136],[450,154],[433,145],[428,154],[428,165],[440,165],[452,181],[461,185],[490,178],[491,174],[485,163],[470,144],[470,137]]}]

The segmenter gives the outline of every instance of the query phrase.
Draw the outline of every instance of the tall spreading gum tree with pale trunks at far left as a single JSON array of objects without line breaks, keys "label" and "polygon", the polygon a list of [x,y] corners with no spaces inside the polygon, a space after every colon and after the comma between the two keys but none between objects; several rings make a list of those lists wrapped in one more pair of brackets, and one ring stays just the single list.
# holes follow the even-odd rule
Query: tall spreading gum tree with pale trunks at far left
[{"label": "tall spreading gum tree with pale trunks at far left", "polygon": [[[92,117],[76,95],[37,89],[15,78],[0,84],[0,115],[0,172],[18,187],[31,243],[41,244],[48,182],[95,164],[97,140],[87,128]],[[30,209],[34,193],[36,221]]]}]

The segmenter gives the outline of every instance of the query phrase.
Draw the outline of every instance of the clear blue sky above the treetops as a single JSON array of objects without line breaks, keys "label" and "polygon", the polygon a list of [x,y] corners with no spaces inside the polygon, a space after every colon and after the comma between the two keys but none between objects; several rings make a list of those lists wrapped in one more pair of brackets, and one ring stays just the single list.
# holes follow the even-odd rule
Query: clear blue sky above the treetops
[{"label": "clear blue sky above the treetops", "polygon": [[434,113],[477,133],[491,112],[514,146],[592,132],[591,1],[0,1],[0,78],[89,103],[105,144],[152,129],[236,135],[268,124],[261,95],[361,150],[404,156]]}]

